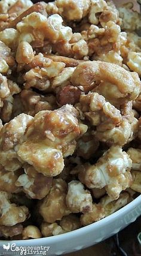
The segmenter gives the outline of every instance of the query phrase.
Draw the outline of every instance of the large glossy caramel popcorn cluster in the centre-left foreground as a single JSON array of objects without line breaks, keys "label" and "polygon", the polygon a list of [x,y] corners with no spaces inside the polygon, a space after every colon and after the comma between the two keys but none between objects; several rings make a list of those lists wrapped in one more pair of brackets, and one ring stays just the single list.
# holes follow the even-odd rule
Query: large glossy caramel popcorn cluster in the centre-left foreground
[{"label": "large glossy caramel popcorn cluster in the centre-left foreground", "polygon": [[17,150],[20,161],[28,162],[45,176],[61,173],[63,157],[72,155],[75,139],[81,133],[77,118],[78,112],[71,105],[36,114],[27,128],[25,142]]}]

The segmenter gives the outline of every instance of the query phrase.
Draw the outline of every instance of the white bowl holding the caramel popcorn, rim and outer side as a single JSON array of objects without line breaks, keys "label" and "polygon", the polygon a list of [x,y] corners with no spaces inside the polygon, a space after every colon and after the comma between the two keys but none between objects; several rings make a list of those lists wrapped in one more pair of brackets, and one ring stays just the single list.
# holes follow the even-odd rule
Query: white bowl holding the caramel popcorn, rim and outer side
[{"label": "white bowl holding the caramel popcorn, rim and outer side", "polygon": [[[62,255],[69,252],[78,251],[79,249],[84,249],[88,246],[99,243],[110,236],[113,236],[119,230],[122,230],[128,224],[135,221],[140,215],[141,195],[139,195],[139,197],[137,197],[134,201],[131,201],[131,203],[124,206],[122,209],[112,213],[112,215],[86,227],[79,228],[78,230],[74,230],[69,233],[59,234],[58,236],[44,237],[41,239],[17,241],[0,240],[0,248],[2,248],[2,245],[8,245],[8,243],[10,243],[10,246],[13,245],[13,243],[16,243],[16,246],[50,246],[48,252],[46,251],[47,254],[36,255]],[[30,248],[32,249],[32,247]],[[11,256],[10,252],[6,255]],[[17,252],[16,254],[13,253],[12,255],[20,256],[21,254]]]}]

